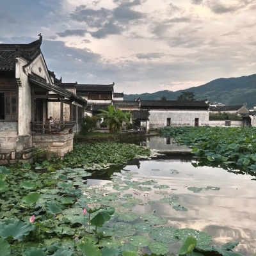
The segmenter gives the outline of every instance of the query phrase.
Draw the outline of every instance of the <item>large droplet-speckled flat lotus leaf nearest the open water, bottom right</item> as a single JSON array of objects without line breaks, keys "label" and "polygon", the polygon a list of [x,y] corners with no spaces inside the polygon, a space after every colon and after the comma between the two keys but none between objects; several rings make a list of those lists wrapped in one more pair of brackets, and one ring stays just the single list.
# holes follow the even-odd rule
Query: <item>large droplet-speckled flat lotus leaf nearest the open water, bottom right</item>
[{"label": "large droplet-speckled flat lotus leaf nearest the open water, bottom right", "polygon": [[197,241],[197,245],[207,245],[211,243],[212,238],[207,233],[195,230],[193,228],[182,228],[175,232],[175,236],[179,237],[179,240],[185,242],[188,237],[194,237]]}]

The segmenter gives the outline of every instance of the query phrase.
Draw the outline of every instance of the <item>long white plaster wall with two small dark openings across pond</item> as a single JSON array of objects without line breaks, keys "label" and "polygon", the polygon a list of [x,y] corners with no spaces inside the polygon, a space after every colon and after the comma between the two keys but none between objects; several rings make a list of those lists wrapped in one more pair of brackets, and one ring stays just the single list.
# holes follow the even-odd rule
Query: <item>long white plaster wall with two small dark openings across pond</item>
[{"label": "long white plaster wall with two small dark openings across pond", "polygon": [[189,110],[150,110],[150,129],[164,127],[167,118],[171,118],[171,126],[195,126],[195,118],[199,118],[199,126],[209,124],[209,111]]}]

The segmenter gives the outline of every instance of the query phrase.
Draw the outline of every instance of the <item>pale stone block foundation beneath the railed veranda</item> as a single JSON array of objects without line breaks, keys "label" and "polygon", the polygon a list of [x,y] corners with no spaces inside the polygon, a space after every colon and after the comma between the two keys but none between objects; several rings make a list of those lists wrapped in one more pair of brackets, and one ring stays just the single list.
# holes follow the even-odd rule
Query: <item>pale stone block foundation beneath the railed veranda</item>
[{"label": "pale stone block foundation beneath the railed veranda", "polygon": [[33,135],[33,147],[44,147],[63,157],[73,150],[74,133]]}]

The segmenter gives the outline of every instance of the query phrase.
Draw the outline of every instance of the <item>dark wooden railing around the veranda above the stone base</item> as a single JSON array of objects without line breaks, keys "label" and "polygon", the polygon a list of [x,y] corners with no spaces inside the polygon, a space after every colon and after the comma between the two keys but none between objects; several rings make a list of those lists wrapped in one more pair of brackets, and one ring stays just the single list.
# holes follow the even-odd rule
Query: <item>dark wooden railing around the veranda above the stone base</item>
[{"label": "dark wooden railing around the veranda above the stone base", "polygon": [[76,125],[76,121],[65,122],[31,122],[31,131],[36,134],[59,134],[60,132],[70,131]]}]

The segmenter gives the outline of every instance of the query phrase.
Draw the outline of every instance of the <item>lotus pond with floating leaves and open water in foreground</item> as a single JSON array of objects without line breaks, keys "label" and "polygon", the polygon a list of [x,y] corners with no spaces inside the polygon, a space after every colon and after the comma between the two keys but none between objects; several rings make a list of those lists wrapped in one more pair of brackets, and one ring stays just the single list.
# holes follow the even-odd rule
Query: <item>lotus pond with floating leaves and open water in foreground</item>
[{"label": "lotus pond with floating leaves and open water in foreground", "polygon": [[196,163],[98,143],[2,166],[1,255],[253,255],[254,177]]}]

